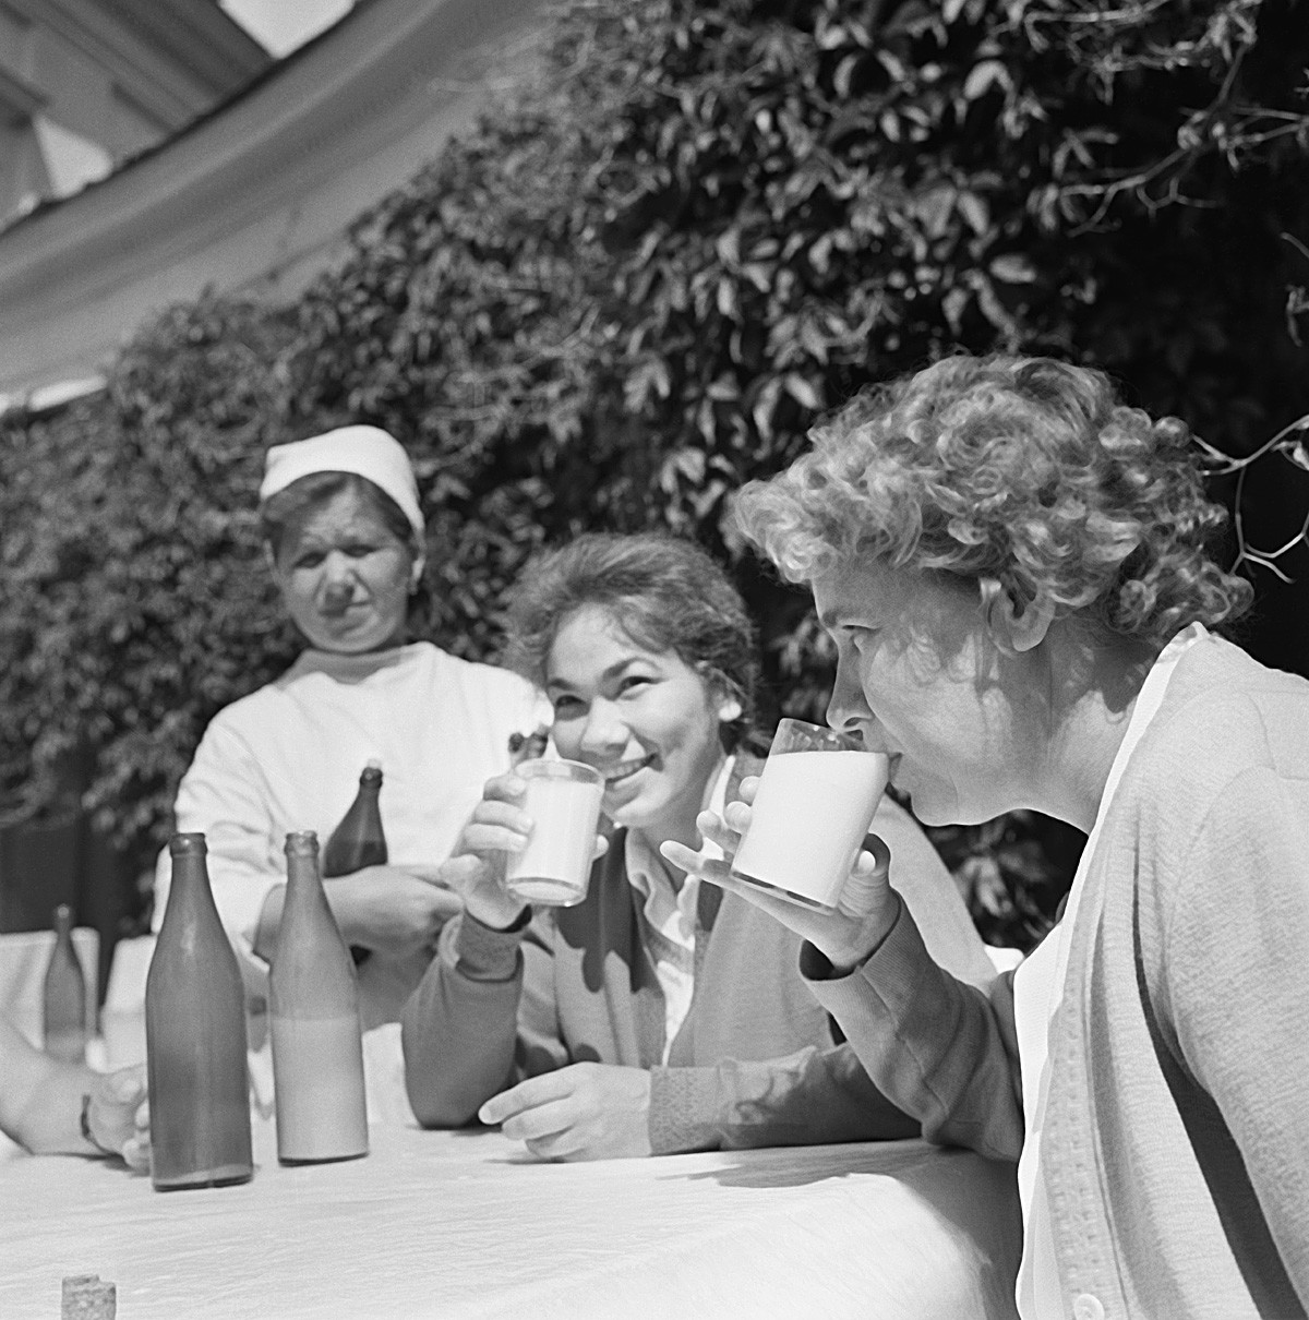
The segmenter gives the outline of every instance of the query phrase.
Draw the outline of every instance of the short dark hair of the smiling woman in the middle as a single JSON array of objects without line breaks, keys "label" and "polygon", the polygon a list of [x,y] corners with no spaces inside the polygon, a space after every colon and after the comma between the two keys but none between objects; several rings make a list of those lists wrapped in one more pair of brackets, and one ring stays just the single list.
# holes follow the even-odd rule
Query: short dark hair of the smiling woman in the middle
[{"label": "short dark hair of the smiling woman in the middle", "polygon": [[606,610],[637,645],[676,652],[736,697],[742,713],[723,726],[728,750],[752,731],[755,630],[740,593],[698,545],[657,532],[591,532],[538,552],[507,595],[509,668],[544,685],[559,628],[587,605]]}]

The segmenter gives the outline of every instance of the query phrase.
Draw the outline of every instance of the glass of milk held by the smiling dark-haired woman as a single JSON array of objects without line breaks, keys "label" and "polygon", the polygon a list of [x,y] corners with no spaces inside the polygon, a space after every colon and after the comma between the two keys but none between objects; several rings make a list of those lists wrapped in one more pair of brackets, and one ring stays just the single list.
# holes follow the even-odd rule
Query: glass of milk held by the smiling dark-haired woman
[{"label": "glass of milk held by the smiling dark-haired woman", "polygon": [[573,907],[591,879],[604,777],[579,760],[525,760],[513,772],[527,780],[532,833],[509,855],[504,887],[524,903]]}]

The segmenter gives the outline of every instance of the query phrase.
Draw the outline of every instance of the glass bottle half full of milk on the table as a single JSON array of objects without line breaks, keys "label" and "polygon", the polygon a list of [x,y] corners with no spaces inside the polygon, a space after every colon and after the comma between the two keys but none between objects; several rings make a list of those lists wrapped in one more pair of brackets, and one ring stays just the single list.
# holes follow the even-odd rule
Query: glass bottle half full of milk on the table
[{"label": "glass bottle half full of milk on the table", "polygon": [[286,902],[268,975],[284,1164],[368,1154],[359,991],[318,875],[318,836],[286,836]]}]

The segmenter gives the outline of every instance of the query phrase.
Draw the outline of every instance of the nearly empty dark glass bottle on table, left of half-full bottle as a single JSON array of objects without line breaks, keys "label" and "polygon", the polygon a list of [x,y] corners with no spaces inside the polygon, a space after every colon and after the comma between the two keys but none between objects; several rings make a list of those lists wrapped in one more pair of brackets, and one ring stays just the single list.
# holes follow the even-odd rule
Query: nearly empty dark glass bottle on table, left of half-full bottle
[{"label": "nearly empty dark glass bottle on table, left of half-full bottle", "polygon": [[174,834],[173,884],[145,981],[150,1177],[166,1192],[245,1183],[245,991],[214,907],[203,834]]}]

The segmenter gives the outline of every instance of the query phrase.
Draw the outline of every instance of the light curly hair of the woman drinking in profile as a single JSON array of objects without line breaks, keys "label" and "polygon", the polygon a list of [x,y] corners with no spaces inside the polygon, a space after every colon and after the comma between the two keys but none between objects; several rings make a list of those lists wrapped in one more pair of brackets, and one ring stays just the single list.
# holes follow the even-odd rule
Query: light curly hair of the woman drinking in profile
[{"label": "light curly hair of the woman drinking in profile", "polygon": [[1254,594],[1206,549],[1227,515],[1203,492],[1185,422],[1124,407],[1103,372],[946,358],[864,391],[810,440],[735,500],[790,581],[871,556],[990,579],[1159,645],[1235,619]]}]

